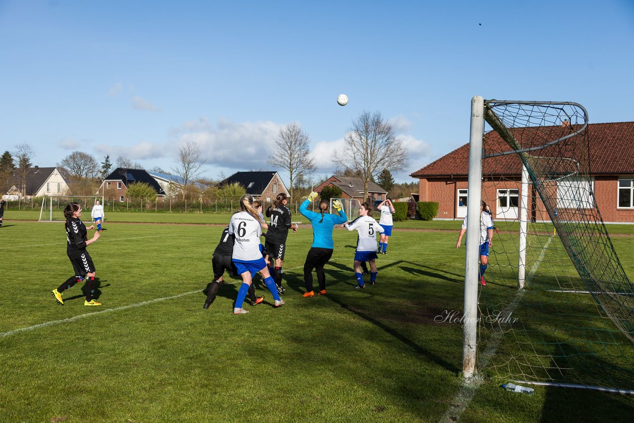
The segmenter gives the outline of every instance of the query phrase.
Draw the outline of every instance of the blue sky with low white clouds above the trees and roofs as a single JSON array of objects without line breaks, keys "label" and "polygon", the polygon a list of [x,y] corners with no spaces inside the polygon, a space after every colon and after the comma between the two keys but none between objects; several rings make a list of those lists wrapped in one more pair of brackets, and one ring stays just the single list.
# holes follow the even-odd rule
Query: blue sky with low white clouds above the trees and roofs
[{"label": "blue sky with low white clouds above the trees and roofs", "polygon": [[[319,166],[363,112],[410,149],[408,174],[469,141],[470,99],[576,101],[634,119],[634,1],[0,0],[0,150],[75,150],[204,176],[269,169],[298,122]],[[337,95],[349,97],[346,107]]]}]

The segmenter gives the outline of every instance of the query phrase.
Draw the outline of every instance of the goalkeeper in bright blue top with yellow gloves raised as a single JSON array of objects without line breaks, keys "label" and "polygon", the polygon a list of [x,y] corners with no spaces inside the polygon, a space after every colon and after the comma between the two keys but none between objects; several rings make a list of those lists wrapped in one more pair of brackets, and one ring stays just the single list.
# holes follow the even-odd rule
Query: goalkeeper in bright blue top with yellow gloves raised
[{"label": "goalkeeper in bright blue top with yellow gloves raised", "polygon": [[320,295],[326,295],[326,275],[323,266],[328,263],[332,257],[334,242],[332,240],[332,230],[335,225],[346,223],[348,218],[342,210],[341,202],[334,200],[332,206],[337,210],[338,215],[327,213],[328,201],[321,200],[319,203],[320,212],[308,210],[308,205],[317,198],[316,192],[311,192],[308,198],[299,206],[299,212],[306,216],[313,225],[313,245],[306,255],[304,263],[304,285],[306,285],[306,293],[304,297],[314,297],[313,290],[313,269],[317,273],[317,282],[319,283]]}]

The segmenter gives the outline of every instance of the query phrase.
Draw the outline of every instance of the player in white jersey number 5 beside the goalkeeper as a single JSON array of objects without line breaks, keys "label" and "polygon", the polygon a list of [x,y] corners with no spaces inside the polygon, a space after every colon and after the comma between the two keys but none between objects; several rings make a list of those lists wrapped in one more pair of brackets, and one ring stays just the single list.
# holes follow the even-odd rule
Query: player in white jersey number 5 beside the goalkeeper
[{"label": "player in white jersey number 5 beside the goalkeeper", "polygon": [[378,225],[377,221],[370,216],[372,208],[370,204],[363,203],[359,207],[359,217],[350,223],[342,225],[349,231],[358,232],[357,249],[354,253],[354,277],[356,277],[356,289],[365,288],[363,274],[361,273],[361,262],[370,262],[370,282],[374,285],[377,282],[377,232],[383,233],[385,230]]}]

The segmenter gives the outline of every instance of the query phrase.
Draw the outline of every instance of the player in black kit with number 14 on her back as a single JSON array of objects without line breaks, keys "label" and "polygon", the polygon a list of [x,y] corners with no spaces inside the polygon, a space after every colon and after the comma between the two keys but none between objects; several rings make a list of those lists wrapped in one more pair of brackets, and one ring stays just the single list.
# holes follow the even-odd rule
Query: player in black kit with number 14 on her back
[{"label": "player in black kit with number 14 on her back", "polygon": [[[278,292],[284,294],[285,289],[281,285],[281,266],[284,263],[286,252],[286,238],[288,230],[292,228],[290,223],[290,210],[286,207],[288,197],[285,193],[280,193],[275,198],[271,206],[266,209],[266,217],[269,218],[269,230],[266,237],[266,250],[269,252],[271,261],[275,263],[275,269],[271,271],[271,276],[275,279]],[[297,232],[297,225],[292,228]],[[274,264],[271,263],[271,266]]]}]

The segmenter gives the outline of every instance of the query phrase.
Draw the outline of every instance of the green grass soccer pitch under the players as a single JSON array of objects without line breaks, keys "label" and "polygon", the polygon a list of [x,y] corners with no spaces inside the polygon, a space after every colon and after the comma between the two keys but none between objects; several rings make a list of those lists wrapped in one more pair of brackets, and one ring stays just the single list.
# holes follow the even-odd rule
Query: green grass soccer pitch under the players
[{"label": "green grass soccer pitch under the players", "polygon": [[[396,225],[435,231],[395,230],[377,261],[378,284],[361,292],[351,270],[356,233],[335,230],[328,295],[314,298],[301,296],[312,237],[301,228],[288,237],[287,304],[274,309],[259,289],[266,302],[235,316],[231,277],[202,309],[221,226],[140,224],[227,223],[228,215],[107,215],[88,247],[103,306],[89,308],[78,285],[64,292],[64,306],[50,294],[72,275],[63,224],[11,221],[33,219],[14,213],[0,229],[0,421],[438,422],[455,421],[460,407],[461,422],[634,415],[626,396],[551,387],[525,396],[496,381],[456,400],[462,328],[434,318],[462,310],[460,222]],[[630,238],[613,240],[634,277]]]}]

